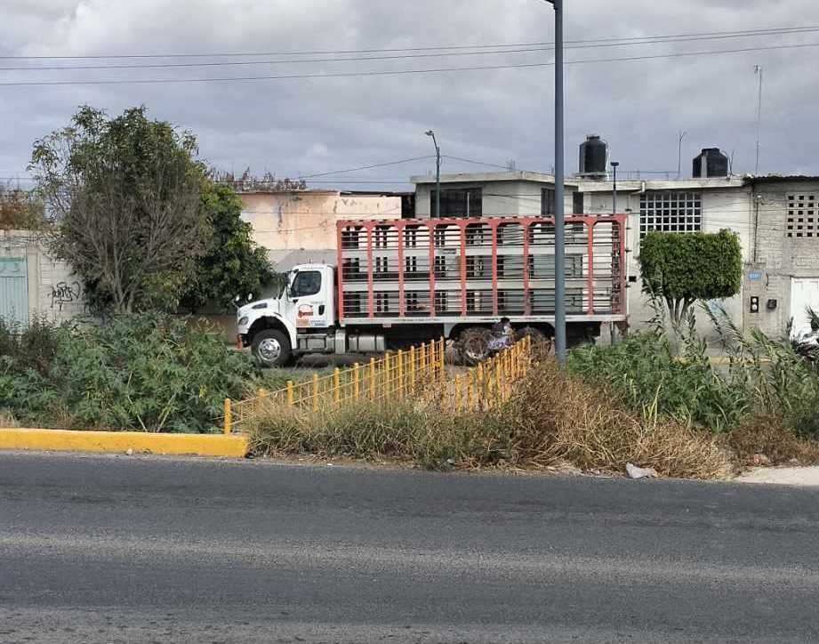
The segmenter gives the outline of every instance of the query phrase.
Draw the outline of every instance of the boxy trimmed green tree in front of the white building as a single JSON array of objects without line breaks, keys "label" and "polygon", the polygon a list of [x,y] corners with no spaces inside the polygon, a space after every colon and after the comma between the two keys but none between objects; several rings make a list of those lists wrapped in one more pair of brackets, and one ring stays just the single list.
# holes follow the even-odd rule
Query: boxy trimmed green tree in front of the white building
[{"label": "boxy trimmed green tree in front of the white building", "polygon": [[640,242],[643,290],[661,296],[679,324],[698,300],[739,293],[743,258],[731,230],[670,233],[652,230]]}]

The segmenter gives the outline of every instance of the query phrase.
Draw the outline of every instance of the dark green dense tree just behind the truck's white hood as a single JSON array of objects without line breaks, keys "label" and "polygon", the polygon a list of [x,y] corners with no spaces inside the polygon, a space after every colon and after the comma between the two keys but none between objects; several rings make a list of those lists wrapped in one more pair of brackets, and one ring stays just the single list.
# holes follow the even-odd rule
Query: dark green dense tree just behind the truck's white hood
[{"label": "dark green dense tree just behind the truck's white hood", "polygon": [[197,259],[196,272],[181,298],[187,310],[227,309],[237,294],[260,293],[275,278],[264,248],[242,221],[242,201],[229,186],[210,181],[202,191],[202,206],[213,235]]}]

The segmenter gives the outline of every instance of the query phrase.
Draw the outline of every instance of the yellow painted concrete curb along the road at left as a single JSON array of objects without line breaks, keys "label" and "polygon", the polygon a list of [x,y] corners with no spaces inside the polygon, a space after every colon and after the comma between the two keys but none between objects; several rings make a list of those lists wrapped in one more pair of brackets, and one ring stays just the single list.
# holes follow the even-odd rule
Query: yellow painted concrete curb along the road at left
[{"label": "yellow painted concrete curb along the road at left", "polygon": [[247,454],[247,438],[224,434],[147,434],[137,431],[0,429],[0,449],[127,452],[197,456]]}]

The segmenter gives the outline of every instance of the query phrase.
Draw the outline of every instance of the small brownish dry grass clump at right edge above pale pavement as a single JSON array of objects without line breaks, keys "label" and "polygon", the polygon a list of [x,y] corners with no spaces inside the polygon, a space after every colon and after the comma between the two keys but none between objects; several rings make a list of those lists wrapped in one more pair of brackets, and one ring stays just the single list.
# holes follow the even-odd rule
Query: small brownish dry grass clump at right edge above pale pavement
[{"label": "small brownish dry grass clump at right edge above pale pavement", "polygon": [[727,434],[726,443],[743,465],[819,464],[819,441],[797,438],[775,414],[749,416]]}]

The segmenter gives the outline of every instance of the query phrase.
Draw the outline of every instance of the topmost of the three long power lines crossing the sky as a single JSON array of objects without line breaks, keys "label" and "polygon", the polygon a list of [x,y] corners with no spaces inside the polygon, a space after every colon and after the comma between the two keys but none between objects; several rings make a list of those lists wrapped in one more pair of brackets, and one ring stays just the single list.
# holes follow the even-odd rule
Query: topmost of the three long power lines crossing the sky
[{"label": "topmost of the three long power lines crossing the sky", "polygon": [[[663,41],[675,38],[693,38],[706,36],[719,37],[743,37],[743,36],[767,36],[810,33],[819,29],[819,26],[800,27],[775,27],[760,29],[745,29],[740,31],[711,31],[691,34],[668,34],[662,36],[625,36],[614,38],[593,38],[587,40],[568,40],[566,46],[578,44],[599,44],[599,43],[625,43],[634,41]],[[215,52],[215,53],[132,53],[132,54],[79,54],[79,55],[39,55],[39,56],[0,56],[0,60],[127,60],[127,59],[151,59],[151,58],[237,58],[247,56],[310,56],[310,55],[331,55],[331,54],[353,54],[353,53],[380,53],[380,52],[440,52],[445,50],[467,50],[467,49],[491,49],[498,47],[538,47],[542,45],[553,46],[554,43],[509,43],[509,44],[454,44],[438,45],[430,47],[404,47],[385,49],[347,49],[347,50],[318,50],[318,51],[296,51],[296,52]]]}]

